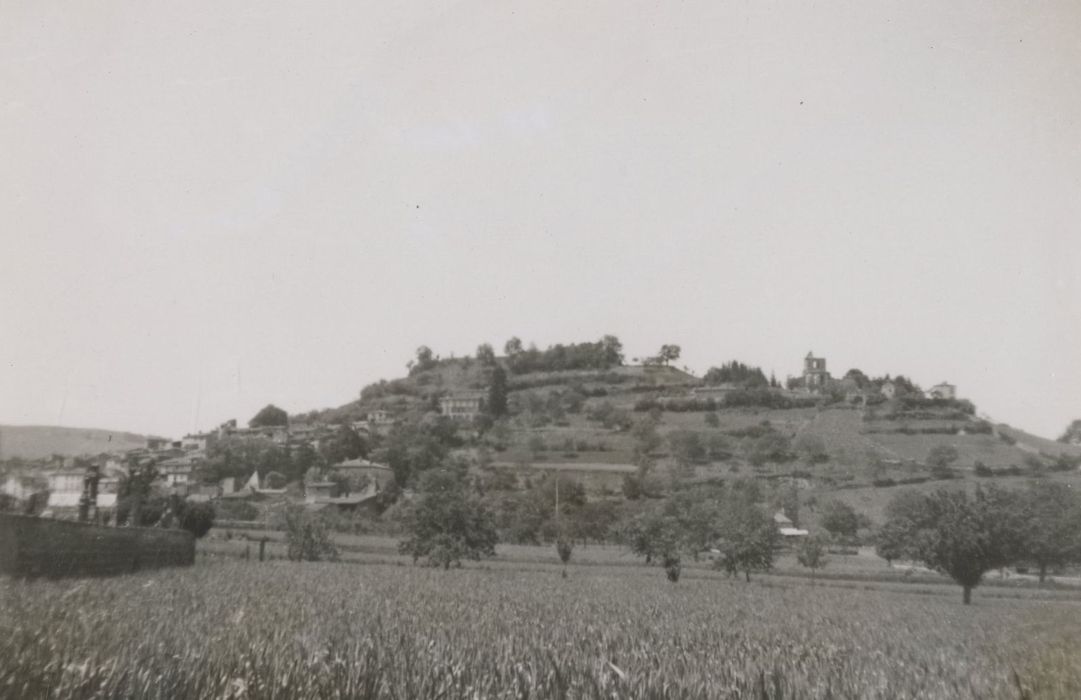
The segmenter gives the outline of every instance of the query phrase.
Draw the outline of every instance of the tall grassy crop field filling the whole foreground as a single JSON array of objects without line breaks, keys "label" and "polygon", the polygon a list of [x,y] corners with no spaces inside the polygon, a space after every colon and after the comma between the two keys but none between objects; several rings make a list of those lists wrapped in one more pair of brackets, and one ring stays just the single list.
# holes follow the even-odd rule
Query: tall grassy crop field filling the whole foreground
[{"label": "tall grassy crop field filling the whole foreground", "polygon": [[657,569],[0,580],[0,697],[1077,698],[1081,606]]}]

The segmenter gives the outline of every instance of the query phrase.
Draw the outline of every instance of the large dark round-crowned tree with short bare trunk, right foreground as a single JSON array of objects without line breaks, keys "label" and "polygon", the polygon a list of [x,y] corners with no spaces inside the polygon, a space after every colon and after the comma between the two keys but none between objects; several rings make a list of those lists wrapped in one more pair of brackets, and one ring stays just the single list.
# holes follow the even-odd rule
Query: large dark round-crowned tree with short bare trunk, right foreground
[{"label": "large dark round-crowned tree with short bare trunk, right foreground", "polygon": [[1018,496],[978,487],[973,495],[939,489],[888,509],[905,554],[952,578],[965,605],[984,574],[1016,561],[1023,544]]}]

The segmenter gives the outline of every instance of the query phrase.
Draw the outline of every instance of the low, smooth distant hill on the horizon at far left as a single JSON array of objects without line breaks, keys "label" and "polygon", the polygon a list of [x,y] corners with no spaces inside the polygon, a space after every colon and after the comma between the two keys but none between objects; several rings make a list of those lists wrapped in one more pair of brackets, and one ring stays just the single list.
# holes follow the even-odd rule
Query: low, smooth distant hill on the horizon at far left
[{"label": "low, smooth distant hill on the horizon at far left", "polygon": [[146,446],[146,435],[93,428],[0,426],[0,459],[40,459],[50,455],[78,457]]}]

